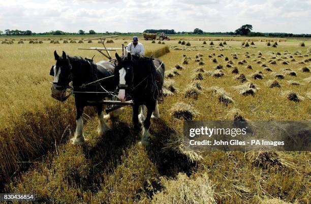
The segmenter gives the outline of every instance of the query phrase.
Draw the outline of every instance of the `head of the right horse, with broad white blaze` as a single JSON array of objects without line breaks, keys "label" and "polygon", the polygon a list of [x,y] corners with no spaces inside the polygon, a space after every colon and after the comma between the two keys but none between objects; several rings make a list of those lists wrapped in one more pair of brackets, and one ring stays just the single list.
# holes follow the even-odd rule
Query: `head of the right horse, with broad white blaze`
[{"label": "head of the right horse, with broad white blaze", "polygon": [[126,90],[131,91],[133,85],[132,56],[128,53],[128,55],[120,57],[115,53],[115,57],[118,61],[118,64],[114,69],[114,78],[119,89],[118,98],[121,101],[125,101]]}]

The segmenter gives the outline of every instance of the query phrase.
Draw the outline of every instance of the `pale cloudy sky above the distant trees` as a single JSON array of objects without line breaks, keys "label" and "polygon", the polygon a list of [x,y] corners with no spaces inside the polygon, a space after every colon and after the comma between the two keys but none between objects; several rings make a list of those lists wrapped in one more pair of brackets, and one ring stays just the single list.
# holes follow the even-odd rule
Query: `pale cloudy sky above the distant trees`
[{"label": "pale cloudy sky above the distant trees", "polygon": [[174,29],[311,33],[311,0],[16,0],[0,1],[0,31],[143,32]]}]

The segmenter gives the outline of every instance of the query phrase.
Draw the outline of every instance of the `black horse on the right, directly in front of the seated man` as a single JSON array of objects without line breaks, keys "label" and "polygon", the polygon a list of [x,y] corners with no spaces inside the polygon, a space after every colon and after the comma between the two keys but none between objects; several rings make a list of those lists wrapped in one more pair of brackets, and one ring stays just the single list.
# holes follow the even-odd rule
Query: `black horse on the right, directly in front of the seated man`
[{"label": "black horse on the right, directly in front of the seated man", "polygon": [[[158,97],[164,82],[164,63],[155,58],[128,55],[120,57],[115,54],[118,65],[114,69],[116,84],[118,84],[121,101],[132,99],[134,128],[139,129],[140,122],[143,121],[141,130],[141,143],[149,144],[150,118],[160,118],[158,108]],[[139,106],[142,105],[140,117],[138,115]],[[144,116],[144,105],[147,107],[147,115]]]}]

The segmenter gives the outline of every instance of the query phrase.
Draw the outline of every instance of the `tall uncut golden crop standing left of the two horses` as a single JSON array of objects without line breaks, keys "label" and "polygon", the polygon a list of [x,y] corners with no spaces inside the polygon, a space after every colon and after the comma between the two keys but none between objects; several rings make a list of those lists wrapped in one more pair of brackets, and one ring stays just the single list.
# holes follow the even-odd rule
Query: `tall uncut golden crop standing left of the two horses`
[{"label": "tall uncut golden crop standing left of the two horses", "polygon": [[[71,44],[45,42],[37,47],[28,43],[24,45],[23,49],[17,44],[8,46],[0,55],[3,62],[0,65],[0,107],[3,110],[0,113],[1,181],[9,179],[17,169],[25,168],[20,162],[33,161],[47,150],[55,149],[55,143],[66,141],[75,129],[73,99],[61,103],[50,97],[52,77],[49,76],[49,69],[55,64],[53,50],[66,50],[70,55],[76,53],[87,57],[94,54],[81,52],[77,50],[77,45]],[[154,53],[153,56],[169,51],[165,46],[154,46],[154,51],[148,46],[146,48],[146,54]],[[104,59],[96,55],[95,60]],[[93,115],[94,110],[88,108],[84,118]]]}]

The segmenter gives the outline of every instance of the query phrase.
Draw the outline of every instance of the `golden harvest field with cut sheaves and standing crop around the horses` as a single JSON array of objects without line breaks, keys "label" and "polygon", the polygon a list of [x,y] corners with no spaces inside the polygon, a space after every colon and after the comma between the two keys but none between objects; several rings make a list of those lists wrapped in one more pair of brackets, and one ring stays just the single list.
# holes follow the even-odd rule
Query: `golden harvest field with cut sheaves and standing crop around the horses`
[{"label": "golden harvest field with cut sheaves and standing crop around the horses", "polygon": [[[102,55],[77,47],[101,44],[47,38],[34,39],[38,44],[23,37],[24,44],[17,44],[19,37],[14,44],[0,44],[2,191],[34,192],[38,203],[310,203],[309,152],[191,152],[183,150],[181,135],[185,116],[310,120],[311,41],[305,46],[300,39],[243,37],[140,41],[147,56],[156,53],[166,66],[161,120],[152,121],[151,145],[145,148],[133,131],[130,107],[108,122],[111,131],[102,137],[96,134],[95,111],[88,108],[83,115],[88,142],[69,142],[74,102],[50,97],[53,51],[96,54],[97,62]],[[130,37],[113,41],[106,45],[120,47]],[[268,47],[266,41],[278,45]],[[176,111],[181,102],[186,114]]]}]

